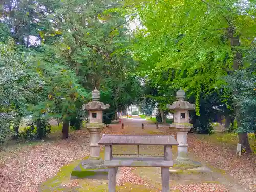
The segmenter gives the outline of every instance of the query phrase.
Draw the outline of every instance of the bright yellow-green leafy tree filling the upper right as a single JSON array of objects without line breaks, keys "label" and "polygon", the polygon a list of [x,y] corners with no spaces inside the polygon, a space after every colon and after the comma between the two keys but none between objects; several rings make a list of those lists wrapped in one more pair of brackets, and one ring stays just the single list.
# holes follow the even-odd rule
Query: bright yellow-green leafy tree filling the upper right
[{"label": "bright yellow-green leafy tree filling the upper right", "polygon": [[[150,1],[137,13],[143,29],[136,32],[135,58],[159,74],[174,69],[170,86],[196,96],[197,115],[201,92],[222,87],[223,76],[241,68],[243,50],[255,44],[254,1]],[[239,141],[251,152],[247,131]]]}]

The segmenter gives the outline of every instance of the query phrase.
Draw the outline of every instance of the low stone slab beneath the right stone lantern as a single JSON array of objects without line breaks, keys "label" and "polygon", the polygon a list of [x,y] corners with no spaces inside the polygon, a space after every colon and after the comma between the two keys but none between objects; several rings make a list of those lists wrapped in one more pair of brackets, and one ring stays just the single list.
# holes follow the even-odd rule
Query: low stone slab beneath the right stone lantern
[{"label": "low stone slab beneath the right stone lantern", "polygon": [[213,181],[212,171],[207,167],[197,167],[186,170],[169,168],[170,180],[182,181]]}]

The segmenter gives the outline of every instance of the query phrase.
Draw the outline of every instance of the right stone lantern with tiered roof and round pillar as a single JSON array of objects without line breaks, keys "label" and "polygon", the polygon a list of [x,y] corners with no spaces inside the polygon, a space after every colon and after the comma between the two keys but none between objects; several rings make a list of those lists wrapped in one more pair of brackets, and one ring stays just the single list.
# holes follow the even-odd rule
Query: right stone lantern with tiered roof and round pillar
[{"label": "right stone lantern with tiered roof and round pillar", "polygon": [[185,91],[180,89],[176,93],[177,101],[172,105],[167,104],[167,108],[174,111],[174,123],[170,124],[177,133],[178,155],[175,163],[183,167],[198,167],[198,164],[188,158],[187,133],[192,128],[189,123],[189,110],[195,110],[195,105],[185,101]]}]

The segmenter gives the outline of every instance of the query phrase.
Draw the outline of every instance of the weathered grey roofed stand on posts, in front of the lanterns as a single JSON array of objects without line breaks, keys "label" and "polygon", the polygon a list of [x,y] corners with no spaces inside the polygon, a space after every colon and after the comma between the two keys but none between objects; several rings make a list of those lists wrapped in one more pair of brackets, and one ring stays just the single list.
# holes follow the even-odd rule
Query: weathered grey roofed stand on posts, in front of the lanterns
[{"label": "weathered grey roofed stand on posts, in front of the lanterns", "polygon": [[[116,172],[118,167],[161,167],[162,192],[169,192],[169,167],[173,166],[172,145],[178,145],[173,135],[103,135],[99,141],[105,145],[104,165],[109,167],[109,192],[116,191]],[[136,156],[113,156],[112,145],[137,145]],[[139,154],[139,145],[162,145],[162,157]],[[132,155],[132,154],[130,154]]]}]

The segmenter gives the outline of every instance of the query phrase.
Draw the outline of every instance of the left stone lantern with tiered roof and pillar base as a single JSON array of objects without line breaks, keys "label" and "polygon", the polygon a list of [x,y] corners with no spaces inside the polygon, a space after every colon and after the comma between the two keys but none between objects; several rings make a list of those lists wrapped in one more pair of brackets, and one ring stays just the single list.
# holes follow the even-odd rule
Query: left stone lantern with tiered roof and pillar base
[{"label": "left stone lantern with tiered roof and pillar base", "polygon": [[90,156],[89,159],[85,160],[82,164],[84,168],[98,167],[103,163],[100,157],[100,146],[98,142],[100,140],[100,132],[106,125],[102,123],[103,110],[108,109],[110,105],[104,104],[99,101],[100,92],[96,89],[92,91],[92,101],[88,104],[83,105],[83,108],[89,112],[89,122],[86,124],[86,128],[90,132]]}]

